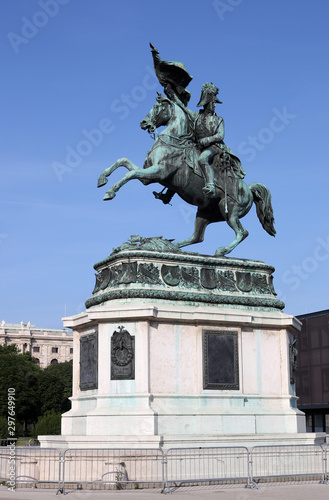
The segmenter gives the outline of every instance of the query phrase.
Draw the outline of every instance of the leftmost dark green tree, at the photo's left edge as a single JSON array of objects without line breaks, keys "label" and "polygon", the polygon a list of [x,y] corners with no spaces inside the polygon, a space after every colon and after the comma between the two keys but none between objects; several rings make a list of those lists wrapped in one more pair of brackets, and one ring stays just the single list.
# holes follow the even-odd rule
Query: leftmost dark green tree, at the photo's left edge
[{"label": "leftmost dark green tree, at the photo's left edge", "polygon": [[27,423],[37,420],[39,414],[38,382],[41,369],[30,353],[20,354],[15,345],[0,346],[0,416],[8,417],[8,389],[15,392],[16,422],[26,430]]}]

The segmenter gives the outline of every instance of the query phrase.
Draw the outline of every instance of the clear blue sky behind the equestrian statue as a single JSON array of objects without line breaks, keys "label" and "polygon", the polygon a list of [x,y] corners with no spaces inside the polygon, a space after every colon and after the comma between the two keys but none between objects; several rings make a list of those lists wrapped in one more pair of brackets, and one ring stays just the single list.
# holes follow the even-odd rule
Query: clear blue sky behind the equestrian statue
[{"label": "clear blue sky behind the equestrian statue", "polygon": [[[246,183],[272,193],[277,236],[253,207],[231,256],[276,268],[285,312],[327,309],[328,19],[326,0],[0,0],[0,320],[60,328],[91,296],[94,263],[131,234],[192,233],[195,208],[156,201],[158,185],[132,181],[110,202],[96,188],[152,145],[139,127],[162,90],[149,42],[193,75],[191,109],[204,82],[219,87],[225,142]],[[186,250],[232,239],[213,224]]]}]

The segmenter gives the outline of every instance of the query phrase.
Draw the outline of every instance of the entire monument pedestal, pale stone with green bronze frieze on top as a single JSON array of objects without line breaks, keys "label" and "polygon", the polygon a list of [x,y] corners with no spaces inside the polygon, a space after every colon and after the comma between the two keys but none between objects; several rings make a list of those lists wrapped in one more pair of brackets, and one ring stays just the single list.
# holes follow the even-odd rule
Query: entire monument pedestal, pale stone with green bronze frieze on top
[{"label": "entire monument pedestal, pale stone with green bronze frieze on top", "polygon": [[57,445],[215,446],[305,432],[290,347],[300,323],[281,311],[273,268],[147,243],[96,264],[86,312],[64,318],[73,396]]}]

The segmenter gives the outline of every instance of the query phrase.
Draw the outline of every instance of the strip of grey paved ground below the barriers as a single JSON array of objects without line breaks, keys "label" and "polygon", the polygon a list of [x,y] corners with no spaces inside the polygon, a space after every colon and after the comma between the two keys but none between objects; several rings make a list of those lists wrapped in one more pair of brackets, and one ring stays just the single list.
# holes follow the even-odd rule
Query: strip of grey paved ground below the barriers
[{"label": "strip of grey paved ground below the barriers", "polygon": [[[129,491],[88,491],[68,490],[67,500],[163,500],[164,498],[180,500],[195,498],[202,500],[328,500],[329,485],[315,483],[260,485],[259,489],[246,489],[241,486],[194,486],[177,489],[172,495],[161,495],[160,490],[129,490]],[[0,500],[50,500],[56,497],[56,490],[18,488],[8,491],[6,486],[0,486]]]}]

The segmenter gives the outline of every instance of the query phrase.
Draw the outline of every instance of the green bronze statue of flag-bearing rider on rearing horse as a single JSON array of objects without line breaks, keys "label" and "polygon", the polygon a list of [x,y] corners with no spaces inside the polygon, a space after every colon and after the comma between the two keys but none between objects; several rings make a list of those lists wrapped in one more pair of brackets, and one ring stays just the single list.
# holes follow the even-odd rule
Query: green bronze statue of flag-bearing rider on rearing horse
[{"label": "green bronze statue of flag-bearing rider on rearing horse", "polygon": [[[154,192],[156,198],[169,203],[174,194],[198,207],[192,236],[175,242],[178,248],[200,243],[208,224],[226,221],[234,230],[235,239],[219,247],[215,255],[230,253],[248,236],[240,219],[253,203],[258,218],[268,234],[275,235],[271,194],[263,184],[249,186],[243,181],[245,171],[230,148],[224,143],[224,121],[215,112],[218,88],[212,83],[202,87],[198,106],[200,111],[187,108],[190,93],[186,86],[192,77],[184,64],[163,61],[151,45],[155,73],[166,95],[157,93],[156,103],[141,121],[140,126],[154,134],[154,143],[148,151],[143,168],[128,158],[120,158],[105,169],[98,179],[98,187],[108,182],[117,168],[128,172],[104,196],[111,200],[117,191],[131,179],[143,184],[159,183],[164,189]],[[165,127],[157,132],[158,127]],[[166,192],[163,192],[167,188]]]}]

